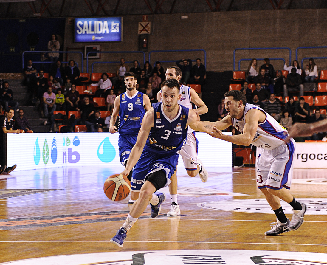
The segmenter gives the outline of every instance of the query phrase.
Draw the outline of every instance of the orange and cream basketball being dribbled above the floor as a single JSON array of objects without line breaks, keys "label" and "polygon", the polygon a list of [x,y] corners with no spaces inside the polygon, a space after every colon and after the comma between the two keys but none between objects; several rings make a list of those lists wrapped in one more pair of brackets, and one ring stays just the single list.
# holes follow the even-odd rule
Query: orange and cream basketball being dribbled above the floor
[{"label": "orange and cream basketball being dribbled above the floor", "polygon": [[122,174],[112,175],[104,182],[103,191],[110,200],[121,201],[129,195],[130,182]]}]

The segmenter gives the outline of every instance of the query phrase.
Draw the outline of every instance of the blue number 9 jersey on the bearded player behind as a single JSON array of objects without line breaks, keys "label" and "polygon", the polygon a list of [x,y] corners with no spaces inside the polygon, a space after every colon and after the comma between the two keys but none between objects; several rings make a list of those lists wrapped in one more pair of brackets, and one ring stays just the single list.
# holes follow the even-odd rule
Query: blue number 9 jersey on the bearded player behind
[{"label": "blue number 9 jersey on the bearded player behind", "polygon": [[138,91],[133,97],[129,97],[125,92],[119,97],[119,133],[138,134],[145,114],[143,93]]}]

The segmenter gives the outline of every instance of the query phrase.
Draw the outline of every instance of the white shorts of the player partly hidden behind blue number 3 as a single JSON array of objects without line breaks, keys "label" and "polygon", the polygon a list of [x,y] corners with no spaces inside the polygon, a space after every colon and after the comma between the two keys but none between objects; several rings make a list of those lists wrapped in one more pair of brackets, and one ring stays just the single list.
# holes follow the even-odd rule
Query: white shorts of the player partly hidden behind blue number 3
[{"label": "white shorts of the player partly hidden behind blue number 3", "polygon": [[198,168],[198,139],[194,132],[187,133],[187,139],[183,149],[178,152],[183,159],[186,170],[196,170]]}]

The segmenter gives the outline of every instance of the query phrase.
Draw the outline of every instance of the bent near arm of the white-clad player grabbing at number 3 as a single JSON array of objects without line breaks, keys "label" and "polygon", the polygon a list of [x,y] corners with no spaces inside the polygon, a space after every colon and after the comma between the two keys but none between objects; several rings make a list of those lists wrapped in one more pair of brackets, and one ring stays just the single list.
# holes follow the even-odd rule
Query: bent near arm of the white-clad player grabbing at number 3
[{"label": "bent near arm of the white-clad player grabbing at number 3", "polygon": [[219,138],[228,142],[231,142],[236,145],[246,145],[249,146],[252,143],[254,135],[258,129],[259,120],[265,120],[266,115],[258,110],[251,109],[245,115],[246,125],[243,128],[243,133],[238,135],[225,135],[220,130],[214,127],[214,132],[211,132],[210,135],[215,138]]}]

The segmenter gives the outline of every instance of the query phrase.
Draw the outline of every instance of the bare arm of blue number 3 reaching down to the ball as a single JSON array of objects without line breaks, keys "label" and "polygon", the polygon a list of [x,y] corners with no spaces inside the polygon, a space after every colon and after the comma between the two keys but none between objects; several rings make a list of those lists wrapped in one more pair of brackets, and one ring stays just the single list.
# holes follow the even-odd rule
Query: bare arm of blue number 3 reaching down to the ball
[{"label": "bare arm of blue number 3 reaching down to the ball", "polygon": [[143,148],[146,144],[146,140],[149,137],[151,128],[154,126],[154,114],[153,108],[146,112],[143,117],[141,129],[137,135],[137,140],[135,145],[129,154],[129,159],[125,170],[122,172],[123,175],[128,176],[130,170],[135,166],[136,162],[140,159]]}]

